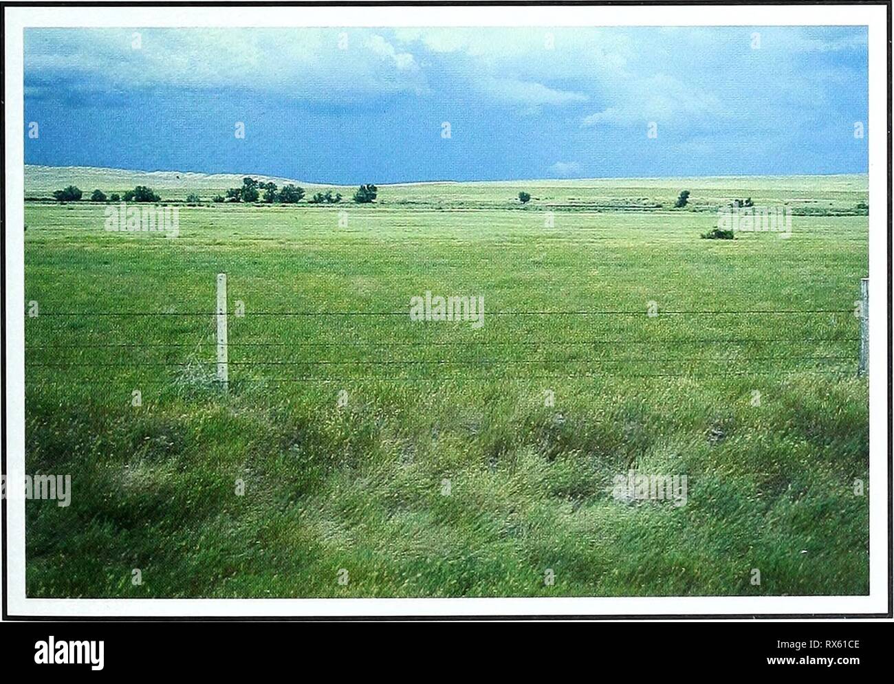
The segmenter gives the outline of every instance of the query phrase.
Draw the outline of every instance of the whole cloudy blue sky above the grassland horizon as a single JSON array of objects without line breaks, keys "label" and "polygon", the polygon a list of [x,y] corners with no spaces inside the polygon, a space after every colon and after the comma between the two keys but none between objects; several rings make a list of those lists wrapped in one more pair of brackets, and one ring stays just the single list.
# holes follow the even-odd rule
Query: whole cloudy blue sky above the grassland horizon
[{"label": "whole cloudy blue sky above the grassland horizon", "polygon": [[345,184],[867,171],[864,27],[133,33],[26,30],[26,163]]}]

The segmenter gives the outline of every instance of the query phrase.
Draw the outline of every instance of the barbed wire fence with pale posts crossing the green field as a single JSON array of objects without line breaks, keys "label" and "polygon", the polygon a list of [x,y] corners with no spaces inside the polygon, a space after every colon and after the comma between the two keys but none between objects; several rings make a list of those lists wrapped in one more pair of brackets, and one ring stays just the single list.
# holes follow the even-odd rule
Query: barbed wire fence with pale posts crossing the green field
[{"label": "barbed wire fence with pale posts crossing the green field", "polygon": [[[519,379],[578,380],[605,377],[625,378],[708,378],[738,376],[789,376],[819,374],[829,376],[864,375],[868,371],[868,280],[861,283],[861,297],[854,308],[744,308],[679,309],[657,312],[628,309],[568,310],[501,310],[488,312],[497,320],[524,321],[522,329],[535,330],[532,321],[548,321],[552,334],[534,338],[514,337],[510,340],[432,340],[413,330],[409,340],[387,337],[346,341],[302,339],[304,332],[283,336],[241,337],[240,320],[257,317],[261,320],[299,320],[312,322],[316,328],[331,326],[332,321],[385,321],[386,332],[393,333],[401,318],[409,323],[407,310],[260,310],[245,311],[227,308],[225,274],[217,276],[217,297],[214,309],[195,311],[90,311],[41,310],[26,314],[32,325],[39,319],[63,321],[53,332],[63,332],[63,340],[29,344],[26,334],[26,371],[30,369],[77,370],[75,376],[58,376],[69,384],[107,384],[122,371],[152,370],[141,382],[172,382],[173,376],[158,373],[159,369],[202,369],[224,390],[231,383],[263,380],[268,384],[383,382],[470,382]],[[555,339],[554,331],[577,332],[592,325],[553,325],[567,319],[593,321],[609,318],[630,321],[637,318],[674,319],[676,321],[710,318],[724,325],[728,320],[748,321],[754,317],[772,317],[774,334],[708,335],[708,336],[628,336],[592,334],[573,339]],[[820,334],[787,334],[786,322],[811,321],[815,328],[822,317],[828,317],[826,332]],[[85,340],[78,325],[65,322],[114,321],[115,331],[121,324],[139,319],[156,322],[178,322],[171,335],[177,339],[151,342],[133,339],[129,342],[97,342]],[[183,322],[189,323],[184,325]],[[853,321],[843,325],[842,321]],[[230,325],[232,322],[233,325]],[[267,326],[268,328],[271,326]],[[840,332],[844,328],[843,334]],[[354,329],[354,328],[352,328]],[[801,328],[803,330],[803,326]],[[235,339],[230,339],[231,331]],[[90,328],[93,336],[97,331]],[[105,334],[110,334],[106,329]],[[275,331],[273,331],[275,333]],[[796,331],[797,332],[797,331]],[[103,331],[100,331],[103,334]],[[680,353],[680,349],[685,353]],[[784,349],[780,353],[779,350]],[[635,355],[619,354],[618,350],[634,350]],[[718,354],[716,350],[725,353]],[[125,350],[141,352],[139,359],[97,359],[104,353],[119,354]],[[289,353],[296,350],[304,356]],[[310,358],[308,350],[328,351],[325,358]],[[359,358],[336,357],[335,353],[351,350]],[[469,358],[469,350],[474,350]],[[522,353],[519,357],[518,351]],[[659,352],[664,351],[661,355]],[[667,353],[678,350],[677,353]],[[748,353],[741,353],[748,350]],[[774,350],[776,353],[774,353]],[[186,355],[183,352],[186,351]],[[516,353],[509,353],[509,352]],[[258,352],[264,352],[257,356]],[[333,353],[335,352],[335,353]],[[707,352],[707,353],[706,353]],[[430,355],[434,353],[432,358]],[[545,356],[544,356],[545,354]],[[552,354],[552,358],[549,355]],[[555,358],[558,355],[559,358]],[[291,369],[293,373],[288,372]],[[46,372],[46,371],[38,371]],[[33,377],[33,376],[32,376]],[[41,382],[50,378],[42,376]]]}]

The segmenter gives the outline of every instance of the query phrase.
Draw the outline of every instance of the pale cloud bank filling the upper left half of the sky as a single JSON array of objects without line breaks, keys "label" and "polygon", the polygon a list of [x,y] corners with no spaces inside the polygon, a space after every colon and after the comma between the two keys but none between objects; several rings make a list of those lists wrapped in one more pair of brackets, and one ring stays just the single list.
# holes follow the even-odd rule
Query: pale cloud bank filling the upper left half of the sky
[{"label": "pale cloud bank filling the upper left half of the sky", "polygon": [[[414,55],[381,35],[350,30],[28,30],[26,74],[64,76],[81,89],[244,88],[314,100],[419,91]],[[74,86],[72,86],[74,87]]]}]

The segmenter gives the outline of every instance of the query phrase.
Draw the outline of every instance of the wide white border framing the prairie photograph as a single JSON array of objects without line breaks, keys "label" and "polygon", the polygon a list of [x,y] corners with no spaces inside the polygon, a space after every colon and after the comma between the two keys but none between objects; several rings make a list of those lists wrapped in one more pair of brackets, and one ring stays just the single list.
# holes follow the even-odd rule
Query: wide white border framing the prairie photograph
[{"label": "wide white border framing the prairie photograph", "polygon": [[[892,616],[890,418],[890,3],[888,4],[375,4],[343,22],[333,6],[275,4],[274,19],[250,4],[4,4],[3,472],[24,479],[24,74],[30,27],[523,27],[858,25],[869,35],[870,593],[860,596],[649,596],[557,598],[45,599],[25,593],[25,502],[4,499],[4,620],[164,620],[519,617],[588,619],[884,618]],[[220,8],[225,6],[226,12]],[[882,140],[884,139],[884,144]],[[881,198],[884,198],[882,201]],[[9,230],[7,230],[9,229]],[[887,331],[887,336],[886,336]],[[18,478],[18,480],[16,479]],[[883,489],[883,491],[882,491]]]}]

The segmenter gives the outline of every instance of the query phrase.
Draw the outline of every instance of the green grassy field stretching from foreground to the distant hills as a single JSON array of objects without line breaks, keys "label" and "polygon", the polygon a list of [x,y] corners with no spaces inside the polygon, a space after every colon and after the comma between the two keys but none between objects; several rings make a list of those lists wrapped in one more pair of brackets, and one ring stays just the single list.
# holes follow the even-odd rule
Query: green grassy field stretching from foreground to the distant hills
[{"label": "green grassy field stretching from foreground to the distant hills", "polygon": [[[41,173],[30,197],[80,178]],[[791,237],[700,239],[747,197]],[[867,201],[864,176],[380,186],[181,206],[174,239],[28,201],[27,472],[72,474],[69,507],[27,504],[28,594],[866,594]],[[484,325],[411,321],[426,291]],[[631,470],[685,475],[685,505],[614,496]]]}]

